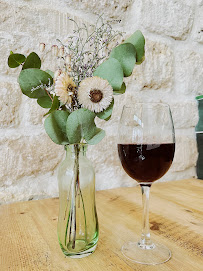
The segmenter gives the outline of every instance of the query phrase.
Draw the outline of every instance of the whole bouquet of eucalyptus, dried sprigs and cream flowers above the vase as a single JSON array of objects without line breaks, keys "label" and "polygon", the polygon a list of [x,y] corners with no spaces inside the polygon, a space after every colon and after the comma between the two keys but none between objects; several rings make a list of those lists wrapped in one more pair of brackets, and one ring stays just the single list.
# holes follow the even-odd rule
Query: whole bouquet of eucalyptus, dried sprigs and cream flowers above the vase
[{"label": "whole bouquet of eucalyptus, dried sprigs and cream flowers above the vase", "polygon": [[[110,50],[109,44],[121,33],[109,22],[99,17],[90,33],[86,25],[76,26],[68,44],[58,40],[60,49],[52,46],[62,63],[55,72],[41,70],[41,59],[35,52],[27,57],[11,52],[8,58],[10,68],[22,66],[18,77],[22,93],[47,108],[45,130],[60,145],[102,140],[105,131],[96,127],[95,118],[110,119],[113,95],[125,92],[123,78],[144,60],[145,39],[139,30]],[[41,43],[40,51],[44,49]]]}]

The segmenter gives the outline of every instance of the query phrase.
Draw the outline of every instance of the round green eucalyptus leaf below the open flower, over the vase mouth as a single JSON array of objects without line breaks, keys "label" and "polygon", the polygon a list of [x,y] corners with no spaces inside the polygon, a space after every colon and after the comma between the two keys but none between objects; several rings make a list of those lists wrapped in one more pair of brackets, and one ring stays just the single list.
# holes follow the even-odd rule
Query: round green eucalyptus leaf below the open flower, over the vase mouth
[{"label": "round green eucalyptus leaf below the open flower, over the vase mouth", "polygon": [[105,136],[105,133],[96,127],[95,116],[95,113],[84,108],[73,111],[69,115],[66,133],[71,144],[80,143],[81,139],[90,142],[89,144],[97,144]]}]

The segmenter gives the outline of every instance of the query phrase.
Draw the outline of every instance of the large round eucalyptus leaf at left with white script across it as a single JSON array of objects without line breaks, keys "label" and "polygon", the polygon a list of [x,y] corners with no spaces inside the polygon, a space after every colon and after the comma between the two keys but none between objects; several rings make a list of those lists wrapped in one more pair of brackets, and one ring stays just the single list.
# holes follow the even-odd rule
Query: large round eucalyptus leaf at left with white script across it
[{"label": "large round eucalyptus leaf at left with white script across it", "polygon": [[43,85],[49,86],[53,84],[52,77],[45,71],[39,69],[22,70],[18,83],[26,96],[38,99],[47,96]]}]

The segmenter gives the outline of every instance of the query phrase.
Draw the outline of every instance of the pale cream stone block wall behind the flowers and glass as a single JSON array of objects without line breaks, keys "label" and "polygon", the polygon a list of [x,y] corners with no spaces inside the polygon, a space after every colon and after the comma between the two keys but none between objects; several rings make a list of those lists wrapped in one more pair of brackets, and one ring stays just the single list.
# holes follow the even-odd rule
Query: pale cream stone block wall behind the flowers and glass
[{"label": "pale cream stone block wall behind the flowers and glass", "polygon": [[[116,150],[117,124],[125,103],[170,104],[176,129],[173,166],[162,180],[196,176],[195,96],[203,89],[202,0],[0,0],[0,203],[57,196],[56,171],[63,147],[43,129],[45,110],[21,94],[19,69],[9,69],[10,50],[39,53],[39,42],[65,41],[73,30],[67,18],[94,23],[96,14],[115,19],[114,28],[129,36],[140,29],[146,37],[146,60],[126,80],[108,122],[98,121],[107,136],[89,148],[96,169],[96,188],[135,184],[121,168]],[[121,23],[116,20],[121,19]],[[50,52],[44,68],[54,69]]]}]

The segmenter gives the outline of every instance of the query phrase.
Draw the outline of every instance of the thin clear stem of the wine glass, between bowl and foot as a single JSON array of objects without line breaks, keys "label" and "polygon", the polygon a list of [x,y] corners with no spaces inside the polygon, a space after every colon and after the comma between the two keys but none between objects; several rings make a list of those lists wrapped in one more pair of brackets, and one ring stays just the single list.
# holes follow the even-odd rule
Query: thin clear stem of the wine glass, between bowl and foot
[{"label": "thin clear stem of the wine glass, between bowl and foot", "polygon": [[138,245],[144,249],[150,249],[153,247],[153,243],[150,239],[149,231],[149,193],[150,185],[140,185],[142,189],[142,204],[143,204],[143,215],[142,215],[142,235]]}]

